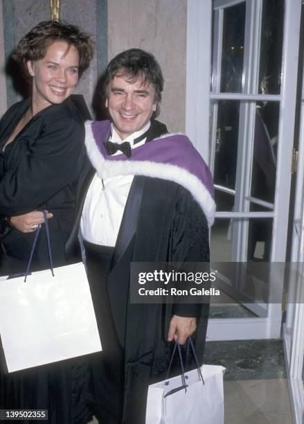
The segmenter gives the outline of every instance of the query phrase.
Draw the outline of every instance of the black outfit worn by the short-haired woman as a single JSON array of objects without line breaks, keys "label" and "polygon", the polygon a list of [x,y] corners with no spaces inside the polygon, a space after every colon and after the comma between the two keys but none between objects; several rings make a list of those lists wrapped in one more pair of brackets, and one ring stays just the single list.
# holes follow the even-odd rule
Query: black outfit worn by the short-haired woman
[{"label": "black outfit worn by the short-haired woman", "polygon": [[[8,227],[5,217],[35,209],[54,215],[49,226],[55,267],[73,261],[66,258],[64,245],[73,224],[84,157],[83,120],[68,98],[35,115],[3,150],[29,106],[29,100],[16,103],[0,121],[0,275],[25,271],[35,236]],[[46,268],[43,226],[31,270]],[[49,423],[85,423],[90,418],[88,385],[86,365],[79,360],[1,373],[0,409],[48,409]]]}]

